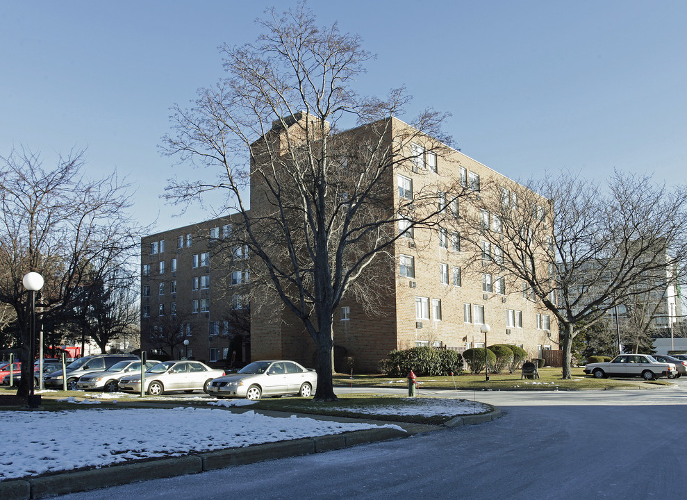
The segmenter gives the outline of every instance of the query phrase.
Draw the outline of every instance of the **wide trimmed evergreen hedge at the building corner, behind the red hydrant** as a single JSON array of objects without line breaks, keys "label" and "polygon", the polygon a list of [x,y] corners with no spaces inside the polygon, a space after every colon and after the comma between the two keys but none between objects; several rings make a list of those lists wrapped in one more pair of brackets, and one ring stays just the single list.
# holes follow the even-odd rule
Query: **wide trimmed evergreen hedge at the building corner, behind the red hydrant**
[{"label": "wide trimmed evergreen hedge at the building corner, behind the red hydrant", "polygon": [[417,376],[458,375],[463,367],[463,357],[458,351],[413,347],[403,351],[391,351],[388,359],[379,361],[379,369],[389,376],[408,376],[413,370]]}]

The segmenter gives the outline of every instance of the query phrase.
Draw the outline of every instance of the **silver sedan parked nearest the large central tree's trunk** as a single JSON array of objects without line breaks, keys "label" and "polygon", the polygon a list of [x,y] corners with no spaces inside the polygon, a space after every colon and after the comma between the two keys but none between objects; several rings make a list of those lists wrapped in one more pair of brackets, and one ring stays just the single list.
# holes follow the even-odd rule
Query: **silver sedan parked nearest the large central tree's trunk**
[{"label": "silver sedan parked nearest the large central tree's trunk", "polygon": [[295,361],[255,361],[238,373],[215,378],[208,388],[217,397],[245,397],[254,401],[263,395],[310,397],[317,389],[317,372]]}]

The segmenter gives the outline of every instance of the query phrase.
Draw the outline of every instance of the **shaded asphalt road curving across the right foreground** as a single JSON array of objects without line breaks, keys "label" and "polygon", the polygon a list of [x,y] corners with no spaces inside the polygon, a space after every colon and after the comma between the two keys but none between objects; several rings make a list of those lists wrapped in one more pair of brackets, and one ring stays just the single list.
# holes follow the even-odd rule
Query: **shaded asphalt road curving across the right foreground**
[{"label": "shaded asphalt road curving across the right foreground", "polygon": [[[444,394],[456,397],[455,391]],[[472,399],[473,393],[458,396]],[[627,500],[684,492],[685,383],[638,391],[484,391],[474,397],[496,404],[504,417],[58,498]]]}]

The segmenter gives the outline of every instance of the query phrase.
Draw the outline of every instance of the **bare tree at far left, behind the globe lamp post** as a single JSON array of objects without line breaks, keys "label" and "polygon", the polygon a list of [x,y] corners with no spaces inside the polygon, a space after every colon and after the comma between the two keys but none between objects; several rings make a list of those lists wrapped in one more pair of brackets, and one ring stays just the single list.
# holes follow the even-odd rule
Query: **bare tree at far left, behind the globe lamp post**
[{"label": "bare tree at far left, behind the globe lamp post", "polygon": [[28,394],[33,358],[28,326],[28,292],[22,278],[40,273],[37,324],[51,321],[73,303],[88,284],[92,269],[106,269],[138,247],[135,224],[126,216],[129,194],[115,176],[88,181],[81,175],[83,151],[43,167],[38,153],[12,151],[0,157],[0,302],[17,315],[22,340],[22,383]]}]

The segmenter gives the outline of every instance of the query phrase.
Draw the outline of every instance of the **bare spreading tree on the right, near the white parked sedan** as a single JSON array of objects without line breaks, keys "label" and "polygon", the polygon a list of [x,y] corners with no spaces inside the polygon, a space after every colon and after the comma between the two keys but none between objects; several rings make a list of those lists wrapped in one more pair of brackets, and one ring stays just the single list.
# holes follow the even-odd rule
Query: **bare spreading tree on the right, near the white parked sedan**
[{"label": "bare spreading tree on the right, near the white parked sedan", "polygon": [[[634,297],[664,292],[685,272],[687,190],[646,176],[616,173],[606,186],[563,173],[522,185],[491,185],[482,210],[499,230],[474,241],[498,247],[490,265],[539,301],[558,321],[563,378],[570,378],[577,325],[601,321]],[[481,221],[473,217],[472,224]],[[484,261],[484,259],[483,259]]]}]

